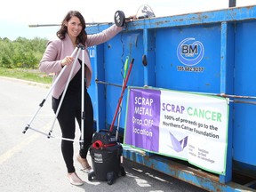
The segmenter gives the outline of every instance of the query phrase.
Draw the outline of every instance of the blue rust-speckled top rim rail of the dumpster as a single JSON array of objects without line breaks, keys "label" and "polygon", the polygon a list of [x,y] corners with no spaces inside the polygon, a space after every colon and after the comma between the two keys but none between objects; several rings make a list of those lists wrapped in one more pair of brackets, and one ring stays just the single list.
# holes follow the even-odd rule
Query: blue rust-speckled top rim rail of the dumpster
[{"label": "blue rust-speckled top rim rail of the dumpster", "polygon": [[[151,18],[148,20],[134,20],[126,24],[127,31],[140,29],[172,28],[172,27],[196,27],[196,25],[217,24],[221,22],[235,23],[244,20],[255,20],[256,6],[229,8],[212,12],[196,12],[170,17]],[[108,28],[108,25],[96,25],[86,28],[88,34],[97,33]]]}]

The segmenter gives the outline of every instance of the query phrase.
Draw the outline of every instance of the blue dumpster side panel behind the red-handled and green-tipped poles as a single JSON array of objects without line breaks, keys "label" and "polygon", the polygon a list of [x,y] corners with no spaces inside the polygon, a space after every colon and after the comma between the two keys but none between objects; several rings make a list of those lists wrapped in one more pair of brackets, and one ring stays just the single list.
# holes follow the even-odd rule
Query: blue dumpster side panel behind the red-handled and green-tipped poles
[{"label": "blue dumpster side panel behind the red-handled and green-tipped poles", "polygon": [[[108,41],[104,45],[105,81],[114,84],[123,84],[124,62],[129,56],[131,62],[135,58],[132,73],[127,86],[132,84],[143,84],[143,68],[141,58],[143,52],[142,33],[123,33]],[[140,76],[140,78],[138,78]],[[137,77],[137,78],[136,78]],[[118,100],[121,96],[121,88],[116,86],[106,87],[106,123],[111,124],[116,111]],[[122,108],[126,108],[126,91],[123,98]],[[120,119],[121,127],[124,128],[124,113]]]}]

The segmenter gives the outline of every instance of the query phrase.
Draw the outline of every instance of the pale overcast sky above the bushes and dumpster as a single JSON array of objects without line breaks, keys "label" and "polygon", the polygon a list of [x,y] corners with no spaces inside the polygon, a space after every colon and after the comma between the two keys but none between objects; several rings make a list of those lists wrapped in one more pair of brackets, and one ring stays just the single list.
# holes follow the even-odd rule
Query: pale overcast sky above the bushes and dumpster
[{"label": "pale overcast sky above the bushes and dumpster", "polygon": [[[59,27],[28,28],[32,24],[59,24],[69,10],[77,10],[86,22],[113,22],[117,10],[125,16],[136,14],[140,5],[148,4],[156,17],[188,12],[204,12],[228,8],[229,0],[5,0],[1,4],[0,37],[15,40],[52,38]],[[236,6],[256,4],[256,0],[236,0]]]}]

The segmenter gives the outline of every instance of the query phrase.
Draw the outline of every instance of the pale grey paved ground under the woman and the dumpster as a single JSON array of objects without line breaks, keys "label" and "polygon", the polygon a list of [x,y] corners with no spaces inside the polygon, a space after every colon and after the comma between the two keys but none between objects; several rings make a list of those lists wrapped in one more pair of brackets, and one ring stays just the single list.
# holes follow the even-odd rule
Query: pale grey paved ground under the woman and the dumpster
[{"label": "pale grey paved ground under the woman and the dumpster", "polygon": [[[80,171],[80,166],[75,161],[76,172],[84,180],[84,185],[72,186],[68,182],[66,167],[60,153],[60,127],[58,123],[52,123],[54,114],[51,108],[51,95],[44,106],[39,107],[49,92],[49,86],[0,77],[0,90],[1,192],[204,191],[140,164],[131,166],[131,162],[126,159],[126,176],[119,177],[113,185],[108,185],[105,181],[89,181],[87,174]],[[39,112],[36,114],[38,108]],[[31,127],[46,134],[52,129],[55,138],[48,139],[44,134],[31,129],[22,133],[33,116],[35,119],[30,124]],[[76,135],[79,135],[79,132],[76,132]],[[78,143],[75,142],[74,146],[77,154]],[[91,156],[88,156],[88,160],[92,161]]]}]

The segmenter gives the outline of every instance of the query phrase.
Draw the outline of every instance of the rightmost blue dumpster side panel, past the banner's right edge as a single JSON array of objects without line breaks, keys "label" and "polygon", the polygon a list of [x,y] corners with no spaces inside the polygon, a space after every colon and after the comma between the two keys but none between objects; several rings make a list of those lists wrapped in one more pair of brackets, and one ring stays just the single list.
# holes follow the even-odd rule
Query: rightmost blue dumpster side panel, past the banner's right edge
[{"label": "rightmost blue dumpster side panel, past the banner's right edge", "polygon": [[[235,79],[236,95],[256,95],[256,22],[255,20],[236,24]],[[256,166],[256,107],[255,105],[239,105],[234,107],[234,159],[245,164]]]}]

